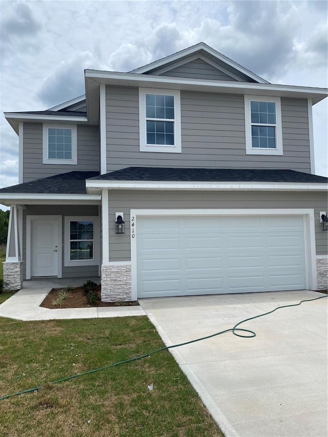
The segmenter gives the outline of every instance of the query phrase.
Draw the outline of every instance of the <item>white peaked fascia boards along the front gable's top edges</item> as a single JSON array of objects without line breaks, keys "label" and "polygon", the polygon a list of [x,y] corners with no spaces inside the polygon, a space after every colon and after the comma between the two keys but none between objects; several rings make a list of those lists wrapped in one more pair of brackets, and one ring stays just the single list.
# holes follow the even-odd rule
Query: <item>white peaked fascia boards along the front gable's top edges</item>
[{"label": "white peaked fascia boards along the front gable's top edges", "polygon": [[249,77],[251,77],[252,79],[261,82],[261,83],[266,83],[268,84],[269,82],[267,80],[264,80],[262,77],[257,76],[256,74],[252,73],[250,70],[247,70],[246,68],[242,67],[241,65],[237,64],[235,61],[233,61],[232,59],[229,59],[227,56],[222,55],[222,53],[217,52],[216,50],[212,49],[212,47],[207,46],[204,43],[199,43],[196,44],[195,46],[189,47],[185,50],[181,50],[177,53],[174,53],[172,55],[169,55],[165,58],[159,59],[157,61],[154,61],[151,64],[148,64],[144,67],[140,67],[137,68],[135,70],[132,70],[132,72],[135,73],[146,73],[150,70],[159,68],[169,62],[173,62],[175,60],[179,60],[181,59],[181,57],[185,57],[185,56],[189,56],[192,55],[196,52],[198,52],[199,50],[203,50],[207,53],[209,53],[210,55],[214,56],[215,58],[223,61],[224,63],[226,63],[227,65],[229,65],[230,67],[233,67],[235,70],[239,71],[240,73],[243,73]]}]

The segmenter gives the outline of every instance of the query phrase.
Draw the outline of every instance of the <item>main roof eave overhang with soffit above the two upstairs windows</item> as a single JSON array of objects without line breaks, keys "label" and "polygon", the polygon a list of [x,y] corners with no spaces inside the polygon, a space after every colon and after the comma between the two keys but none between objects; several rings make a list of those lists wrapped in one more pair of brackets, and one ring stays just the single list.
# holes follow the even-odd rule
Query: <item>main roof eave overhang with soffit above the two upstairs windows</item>
[{"label": "main roof eave overhang with soffit above the two upstairs windows", "polygon": [[291,85],[256,84],[223,80],[191,79],[169,76],[150,76],[139,73],[85,70],[88,120],[96,124],[99,117],[100,84],[121,87],[160,88],[170,90],[202,91],[226,94],[247,94],[275,97],[312,99],[317,103],[328,93],[326,88],[299,87]]}]

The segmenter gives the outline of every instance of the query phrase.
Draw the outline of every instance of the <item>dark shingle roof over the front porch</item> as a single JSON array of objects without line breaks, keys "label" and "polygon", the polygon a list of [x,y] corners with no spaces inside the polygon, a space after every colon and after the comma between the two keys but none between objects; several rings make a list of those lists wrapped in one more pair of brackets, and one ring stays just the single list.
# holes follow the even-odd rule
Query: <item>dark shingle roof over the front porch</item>
[{"label": "dark shingle roof over the front porch", "polygon": [[87,194],[86,179],[99,175],[99,172],[69,172],[48,178],[36,179],[18,185],[7,186],[1,193],[26,194]]}]

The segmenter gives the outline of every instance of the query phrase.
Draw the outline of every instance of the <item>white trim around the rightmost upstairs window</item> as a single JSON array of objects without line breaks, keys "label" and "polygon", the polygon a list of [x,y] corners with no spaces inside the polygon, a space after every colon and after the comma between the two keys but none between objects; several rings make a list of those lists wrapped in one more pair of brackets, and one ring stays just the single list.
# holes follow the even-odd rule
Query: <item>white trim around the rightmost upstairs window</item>
[{"label": "white trim around the rightmost upstairs window", "polygon": [[[252,120],[251,120],[251,101],[268,101],[276,103],[276,149],[264,149],[252,147]],[[247,155],[283,155],[282,150],[282,127],[281,127],[281,102],[280,97],[272,96],[244,96],[245,103],[245,140]],[[257,123],[255,123],[257,124]],[[268,126],[274,126],[268,124]]]}]

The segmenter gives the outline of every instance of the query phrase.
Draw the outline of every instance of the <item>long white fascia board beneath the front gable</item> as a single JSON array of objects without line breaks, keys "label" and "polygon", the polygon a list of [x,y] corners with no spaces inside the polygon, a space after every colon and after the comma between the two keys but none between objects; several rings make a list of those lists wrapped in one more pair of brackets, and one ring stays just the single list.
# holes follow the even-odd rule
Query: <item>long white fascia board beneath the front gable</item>
[{"label": "long white fascia board beneath the front gable", "polygon": [[[258,93],[261,91],[269,92],[269,93],[302,93],[316,96],[324,96],[328,95],[328,90],[326,88],[313,88],[313,87],[299,87],[294,85],[274,85],[274,84],[249,84],[248,82],[235,82],[235,81],[213,81],[209,79],[190,79],[190,78],[172,78],[167,76],[142,76],[137,73],[119,73],[112,71],[99,71],[99,70],[86,70],[85,72],[86,78],[99,79],[99,83],[111,85],[111,80],[126,80],[130,82],[135,82],[135,87],[147,87],[149,88],[160,88],[167,85],[171,86],[171,89],[180,89],[179,86],[182,85],[192,85],[192,86],[201,86],[204,88],[216,88],[217,92],[220,92],[220,88],[224,89],[224,92],[229,92],[231,90],[238,90],[240,94],[243,93],[251,93],[254,91]],[[108,79],[108,81],[106,81]],[[148,84],[147,84],[148,82]],[[114,85],[114,83],[113,83]],[[256,94],[254,93],[254,94]],[[278,94],[275,94],[278,95]],[[295,96],[297,97],[297,96]],[[310,97],[310,96],[309,96]]]}]

